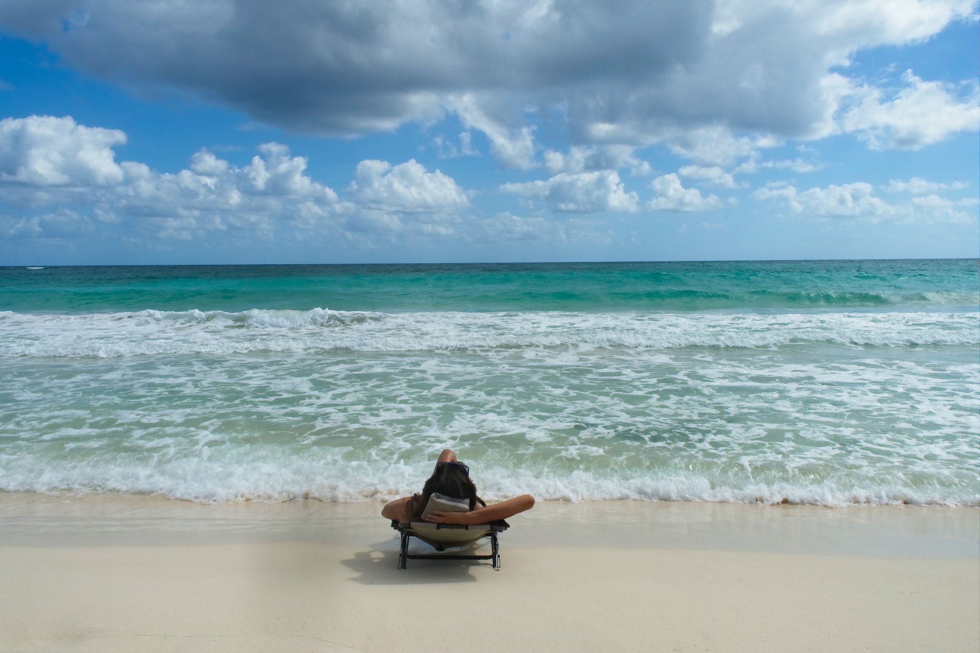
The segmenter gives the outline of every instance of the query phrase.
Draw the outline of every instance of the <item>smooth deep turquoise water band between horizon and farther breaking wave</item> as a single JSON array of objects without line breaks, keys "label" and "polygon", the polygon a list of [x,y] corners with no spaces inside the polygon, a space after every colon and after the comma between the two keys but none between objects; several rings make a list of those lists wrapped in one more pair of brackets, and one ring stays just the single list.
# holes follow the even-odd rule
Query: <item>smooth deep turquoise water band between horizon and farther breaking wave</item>
[{"label": "smooth deep turquoise water band between horizon and farther breaking wave", "polygon": [[15,267],[0,309],[785,310],[977,304],[974,260]]}]

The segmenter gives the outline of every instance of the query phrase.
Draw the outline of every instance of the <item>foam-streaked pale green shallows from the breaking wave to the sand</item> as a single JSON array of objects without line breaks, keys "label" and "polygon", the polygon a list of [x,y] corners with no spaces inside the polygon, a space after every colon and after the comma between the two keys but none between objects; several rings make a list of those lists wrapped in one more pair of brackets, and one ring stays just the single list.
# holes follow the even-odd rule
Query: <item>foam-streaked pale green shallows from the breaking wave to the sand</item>
[{"label": "foam-streaked pale green shallows from the breaking wave to the sand", "polygon": [[0,490],[379,500],[417,491],[449,446],[488,499],[975,506],[978,325],[0,313]]}]

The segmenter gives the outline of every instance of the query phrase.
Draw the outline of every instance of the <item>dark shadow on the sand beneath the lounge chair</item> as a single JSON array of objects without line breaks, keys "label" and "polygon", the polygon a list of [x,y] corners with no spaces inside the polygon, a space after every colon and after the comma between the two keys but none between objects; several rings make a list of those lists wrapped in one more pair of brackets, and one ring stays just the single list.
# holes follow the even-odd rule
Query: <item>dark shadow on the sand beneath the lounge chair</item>
[{"label": "dark shadow on the sand beneath the lounge chair", "polygon": [[[488,560],[409,560],[408,569],[398,569],[397,539],[387,539],[370,544],[371,550],[358,551],[353,558],[341,560],[345,567],[357,572],[359,576],[350,579],[357,583],[368,585],[396,584],[428,584],[428,583],[475,583],[474,575],[484,571],[492,572],[493,567]],[[467,546],[457,552],[468,554],[470,551],[486,548],[489,545]],[[413,542],[410,553],[430,554],[437,551],[423,542]]]}]

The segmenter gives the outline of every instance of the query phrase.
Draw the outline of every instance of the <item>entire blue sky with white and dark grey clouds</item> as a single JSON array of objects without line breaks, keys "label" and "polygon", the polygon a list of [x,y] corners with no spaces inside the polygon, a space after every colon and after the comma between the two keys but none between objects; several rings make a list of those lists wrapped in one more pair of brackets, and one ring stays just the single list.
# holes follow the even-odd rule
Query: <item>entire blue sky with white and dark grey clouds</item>
[{"label": "entire blue sky with white and dark grey clouds", "polygon": [[980,256],[973,0],[0,0],[0,264]]}]

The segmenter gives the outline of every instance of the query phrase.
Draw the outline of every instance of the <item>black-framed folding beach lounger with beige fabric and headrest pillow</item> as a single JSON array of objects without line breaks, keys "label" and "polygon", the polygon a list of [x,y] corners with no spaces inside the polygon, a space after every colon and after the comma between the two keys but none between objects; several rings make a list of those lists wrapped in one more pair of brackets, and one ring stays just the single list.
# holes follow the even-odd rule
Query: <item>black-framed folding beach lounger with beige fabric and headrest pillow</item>
[{"label": "black-framed folding beach lounger with beige fabric and headrest pillow", "polygon": [[[483,503],[480,501],[480,503]],[[483,505],[486,505],[483,503]],[[443,496],[438,492],[433,492],[429,497],[425,509],[422,510],[422,519],[433,510],[445,510],[448,512],[469,512],[469,503],[464,499]],[[492,524],[432,524],[430,522],[402,522],[391,521],[391,528],[402,535],[402,549],[398,556],[398,568],[406,569],[409,559],[413,560],[490,560],[495,570],[500,569],[500,543],[497,541],[497,534],[507,531],[510,524],[504,520],[498,520]],[[417,537],[426,544],[431,545],[437,551],[446,549],[459,549],[469,544],[474,544],[484,537],[490,539],[490,554],[475,555],[462,553],[409,553],[409,540]]]}]

